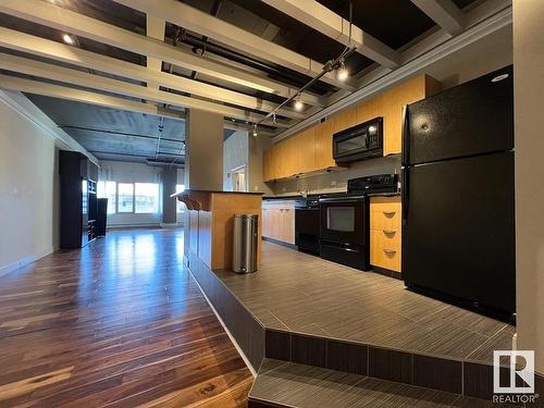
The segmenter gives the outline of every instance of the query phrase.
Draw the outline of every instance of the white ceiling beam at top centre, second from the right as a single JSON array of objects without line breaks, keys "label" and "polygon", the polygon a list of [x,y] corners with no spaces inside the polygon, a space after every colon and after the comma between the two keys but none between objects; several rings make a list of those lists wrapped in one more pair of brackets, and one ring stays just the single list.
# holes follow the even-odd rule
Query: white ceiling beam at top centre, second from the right
[{"label": "white ceiling beam at top centre, second from the right", "polygon": [[357,47],[356,52],[370,58],[381,65],[395,69],[399,64],[399,54],[397,51],[364,33],[359,27],[351,25],[351,38],[349,38],[349,22],[314,0],[263,1],[346,47]]}]

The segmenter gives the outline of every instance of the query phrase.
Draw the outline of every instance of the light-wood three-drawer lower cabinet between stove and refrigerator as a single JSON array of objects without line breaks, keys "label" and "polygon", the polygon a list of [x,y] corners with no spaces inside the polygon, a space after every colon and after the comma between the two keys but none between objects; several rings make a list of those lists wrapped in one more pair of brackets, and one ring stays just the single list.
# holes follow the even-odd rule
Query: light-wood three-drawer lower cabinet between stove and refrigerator
[{"label": "light-wood three-drawer lower cabinet between stove and refrigerator", "polygon": [[400,272],[401,260],[400,197],[370,199],[370,263]]}]

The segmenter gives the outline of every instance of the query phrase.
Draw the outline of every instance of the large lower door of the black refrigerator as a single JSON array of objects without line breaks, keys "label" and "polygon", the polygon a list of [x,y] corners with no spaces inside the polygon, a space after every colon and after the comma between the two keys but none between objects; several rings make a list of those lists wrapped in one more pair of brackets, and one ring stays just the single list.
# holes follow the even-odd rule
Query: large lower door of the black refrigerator
[{"label": "large lower door of the black refrigerator", "polygon": [[406,283],[514,312],[514,153],[404,171]]}]

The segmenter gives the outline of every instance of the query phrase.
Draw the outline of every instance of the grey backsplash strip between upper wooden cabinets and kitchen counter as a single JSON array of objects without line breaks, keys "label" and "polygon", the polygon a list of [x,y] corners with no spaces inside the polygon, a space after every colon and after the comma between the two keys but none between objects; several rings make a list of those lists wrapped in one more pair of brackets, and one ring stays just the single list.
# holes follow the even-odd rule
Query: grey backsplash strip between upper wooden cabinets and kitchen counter
[{"label": "grey backsplash strip between upper wooden cabinets and kitchen counter", "polygon": [[305,190],[308,190],[309,194],[333,193],[345,191],[349,178],[387,173],[400,174],[399,154],[355,162],[344,171],[267,184],[276,196],[294,195]]}]

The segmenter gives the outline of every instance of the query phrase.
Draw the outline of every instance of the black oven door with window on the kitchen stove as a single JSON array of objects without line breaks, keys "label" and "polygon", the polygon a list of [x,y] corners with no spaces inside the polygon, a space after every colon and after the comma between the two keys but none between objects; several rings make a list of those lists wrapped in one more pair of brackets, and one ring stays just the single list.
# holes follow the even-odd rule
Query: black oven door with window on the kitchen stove
[{"label": "black oven door with window on the kitchen stove", "polygon": [[327,197],[319,200],[322,240],[364,245],[364,197]]}]

